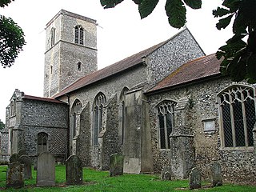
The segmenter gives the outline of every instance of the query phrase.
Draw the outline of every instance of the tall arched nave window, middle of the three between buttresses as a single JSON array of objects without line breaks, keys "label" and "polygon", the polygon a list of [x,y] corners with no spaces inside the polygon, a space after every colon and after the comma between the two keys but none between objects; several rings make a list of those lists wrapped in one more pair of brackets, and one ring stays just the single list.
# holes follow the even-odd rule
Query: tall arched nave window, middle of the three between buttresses
[{"label": "tall arched nave window, middle of the three between buttresses", "polygon": [[98,93],[94,98],[94,145],[98,145],[98,134],[102,131],[103,106],[106,103],[106,97],[102,93]]}]

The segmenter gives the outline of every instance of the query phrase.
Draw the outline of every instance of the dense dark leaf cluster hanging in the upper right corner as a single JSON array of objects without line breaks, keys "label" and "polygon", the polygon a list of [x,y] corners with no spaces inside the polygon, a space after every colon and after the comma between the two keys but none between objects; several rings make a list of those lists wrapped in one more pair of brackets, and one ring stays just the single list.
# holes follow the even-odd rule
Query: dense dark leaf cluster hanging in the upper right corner
[{"label": "dense dark leaf cluster hanging in the upper right corner", "polygon": [[[256,82],[256,1],[225,0],[223,7],[213,11],[218,17],[218,30],[225,29],[234,17],[233,33],[225,46],[218,49],[218,59],[223,59],[220,71],[235,82]],[[247,39],[247,42],[245,42]]]}]

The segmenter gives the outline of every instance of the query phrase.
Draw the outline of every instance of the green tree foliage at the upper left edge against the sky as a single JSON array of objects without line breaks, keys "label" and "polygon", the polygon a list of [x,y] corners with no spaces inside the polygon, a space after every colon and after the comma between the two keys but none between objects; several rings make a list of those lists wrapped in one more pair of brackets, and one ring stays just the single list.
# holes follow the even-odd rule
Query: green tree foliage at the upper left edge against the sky
[{"label": "green tree foliage at the upper left edge against the sky", "polygon": [[[10,2],[11,0],[0,0],[0,6],[7,6]],[[4,68],[14,64],[25,44],[22,29],[11,18],[0,15],[0,62]]]}]

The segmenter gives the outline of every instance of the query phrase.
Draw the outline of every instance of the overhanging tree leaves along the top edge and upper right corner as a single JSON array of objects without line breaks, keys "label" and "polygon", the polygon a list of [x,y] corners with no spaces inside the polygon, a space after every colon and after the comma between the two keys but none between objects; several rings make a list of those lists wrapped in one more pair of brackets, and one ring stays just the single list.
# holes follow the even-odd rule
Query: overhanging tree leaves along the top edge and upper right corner
[{"label": "overhanging tree leaves along the top edge and upper right corner", "polygon": [[[100,1],[105,9],[123,2],[123,0]],[[159,0],[133,1],[138,5],[141,18],[146,18]],[[200,9],[202,0],[166,0],[165,10],[170,26],[179,29],[186,24],[187,6]],[[222,59],[221,73],[230,75],[235,82],[242,80],[256,82],[256,1],[223,0],[222,6],[213,10],[213,15],[219,18],[216,24],[218,30],[225,29],[231,21],[233,22],[234,36],[216,53],[216,57]]]}]

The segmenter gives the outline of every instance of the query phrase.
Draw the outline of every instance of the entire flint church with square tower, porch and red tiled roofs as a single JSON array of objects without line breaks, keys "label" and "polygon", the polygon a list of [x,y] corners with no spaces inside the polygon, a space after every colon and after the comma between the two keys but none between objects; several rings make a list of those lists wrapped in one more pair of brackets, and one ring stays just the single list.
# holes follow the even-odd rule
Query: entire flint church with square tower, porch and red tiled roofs
[{"label": "entire flint church with square tower, porch and red tiled roofs", "polygon": [[186,27],[146,50],[98,70],[97,22],[60,10],[46,24],[43,97],[14,90],[6,107],[1,157],[43,151],[65,162],[124,172],[204,179],[220,162],[227,182],[255,183],[256,85],[232,82]]}]

